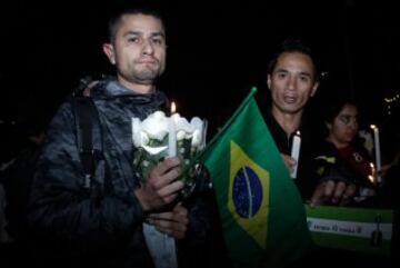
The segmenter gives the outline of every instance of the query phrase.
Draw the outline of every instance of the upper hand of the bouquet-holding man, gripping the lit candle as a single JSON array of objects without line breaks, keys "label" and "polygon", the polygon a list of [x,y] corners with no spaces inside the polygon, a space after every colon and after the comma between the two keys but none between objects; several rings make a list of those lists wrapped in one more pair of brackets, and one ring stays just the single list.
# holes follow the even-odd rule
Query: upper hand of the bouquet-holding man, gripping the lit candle
[{"label": "upper hand of the bouquet-holding man, gripping the lit candle", "polygon": [[183,182],[177,180],[180,172],[177,157],[166,158],[156,166],[146,183],[134,190],[144,211],[161,209],[177,198],[183,188]]}]

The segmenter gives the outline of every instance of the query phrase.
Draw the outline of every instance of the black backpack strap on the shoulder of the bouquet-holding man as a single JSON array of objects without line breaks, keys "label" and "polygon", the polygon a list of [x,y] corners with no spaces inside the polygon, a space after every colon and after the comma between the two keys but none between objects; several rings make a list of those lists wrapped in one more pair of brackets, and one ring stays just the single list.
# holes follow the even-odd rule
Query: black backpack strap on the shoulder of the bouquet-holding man
[{"label": "black backpack strap on the shoulder of the bouquet-holding man", "polygon": [[[91,78],[81,79],[71,98],[79,155],[84,171],[84,188],[92,186],[98,161],[102,158],[103,142],[100,119],[93,99],[90,97],[90,90],[96,85]],[[100,137],[96,138],[96,135]]]}]

